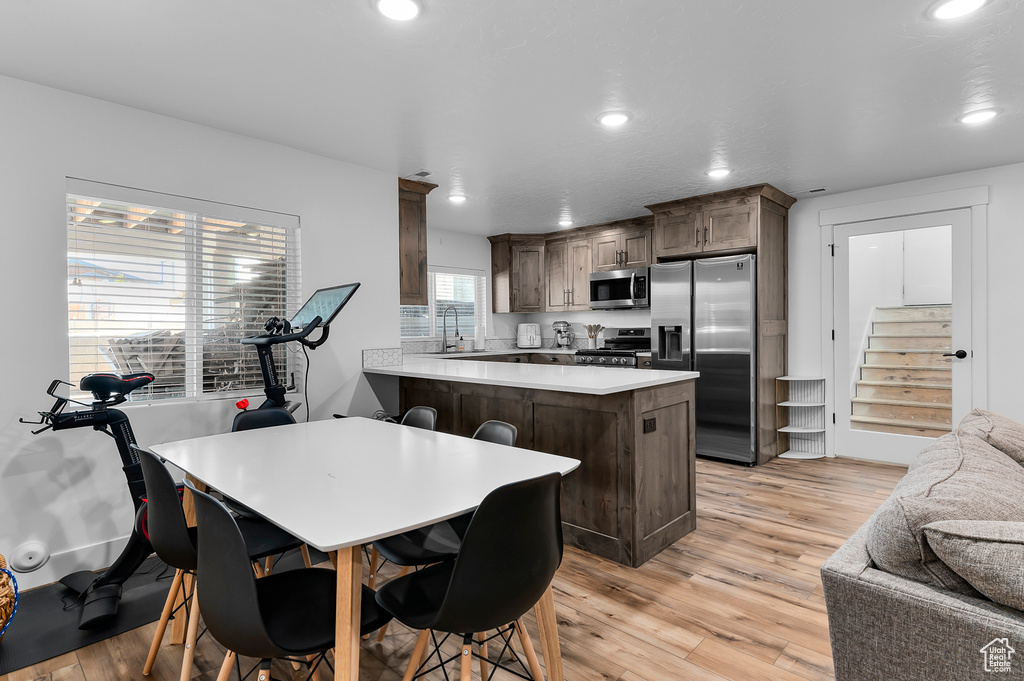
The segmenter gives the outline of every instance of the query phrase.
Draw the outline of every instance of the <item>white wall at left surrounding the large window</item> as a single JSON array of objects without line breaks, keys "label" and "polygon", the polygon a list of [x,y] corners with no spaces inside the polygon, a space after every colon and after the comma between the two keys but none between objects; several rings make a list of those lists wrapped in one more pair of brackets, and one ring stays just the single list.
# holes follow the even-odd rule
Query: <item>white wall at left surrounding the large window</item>
[{"label": "white wall at left surrounding the large window", "polygon": [[[29,540],[54,553],[20,578],[29,588],[109,564],[132,522],[110,438],[86,429],[34,437],[17,422],[48,408],[48,382],[69,371],[66,176],[299,215],[304,294],[362,283],[331,339],[310,352],[314,420],[379,407],[359,351],[398,344],[397,190],[385,173],[23,81],[0,78],[0,288],[10,323],[0,393],[0,553],[10,556]],[[146,445],[226,431],[233,406],[126,411]]]}]

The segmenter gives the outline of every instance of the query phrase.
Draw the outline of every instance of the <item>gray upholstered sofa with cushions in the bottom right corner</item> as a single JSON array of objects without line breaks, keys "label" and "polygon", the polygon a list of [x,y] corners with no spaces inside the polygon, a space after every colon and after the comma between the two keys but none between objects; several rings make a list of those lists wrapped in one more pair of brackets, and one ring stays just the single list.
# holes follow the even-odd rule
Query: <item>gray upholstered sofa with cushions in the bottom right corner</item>
[{"label": "gray upholstered sofa with cushions in the bottom right corner", "polygon": [[1024,679],[1024,426],[972,412],[821,582],[837,681]]}]

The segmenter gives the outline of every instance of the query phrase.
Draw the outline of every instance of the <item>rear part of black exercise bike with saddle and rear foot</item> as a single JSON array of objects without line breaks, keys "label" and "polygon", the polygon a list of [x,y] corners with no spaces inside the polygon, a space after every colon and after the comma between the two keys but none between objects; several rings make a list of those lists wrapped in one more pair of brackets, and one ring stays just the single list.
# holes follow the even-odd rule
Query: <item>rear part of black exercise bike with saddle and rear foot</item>
[{"label": "rear part of black exercise bike with saddle and rear foot", "polygon": [[[142,479],[142,467],[138,457],[131,451],[130,444],[135,444],[135,433],[132,432],[128,416],[121,410],[112,409],[127,401],[128,394],[154,380],[153,374],[89,374],[82,377],[79,388],[91,392],[94,401],[91,405],[80,402],[70,397],[61,397],[56,393],[61,385],[72,385],[59,379],[50,383],[46,394],[56,401],[48,412],[39,412],[39,421],[22,423],[42,424],[39,430],[33,430],[33,435],[53,429],[68,430],[70,428],[92,428],[114,438],[121,456],[122,470],[128,481],[128,492],[135,506],[136,517],[142,516],[145,497],[145,481]],[[75,412],[65,412],[69,402],[75,402],[86,409]],[[121,601],[122,585],[131,577],[139,565],[153,553],[150,541],[140,533],[139,523],[133,523],[128,544],[117,560],[98,576],[89,570],[73,572],[60,580],[82,599],[82,612],[79,618],[79,629],[100,629],[105,627],[118,613]]]}]

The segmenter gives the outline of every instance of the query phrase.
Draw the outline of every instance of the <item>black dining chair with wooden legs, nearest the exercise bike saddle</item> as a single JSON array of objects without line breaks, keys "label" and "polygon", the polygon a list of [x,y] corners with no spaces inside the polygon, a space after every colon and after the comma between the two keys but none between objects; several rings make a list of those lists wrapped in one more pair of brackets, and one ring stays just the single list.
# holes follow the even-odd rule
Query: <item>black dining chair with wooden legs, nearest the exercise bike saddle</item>
[{"label": "black dining chair with wooden legs, nearest the exercise bike saddle", "polygon": [[[138,455],[142,465],[142,477],[145,480],[146,527],[150,543],[153,544],[157,556],[175,568],[171,591],[164,603],[157,633],[153,637],[150,654],[142,668],[142,674],[147,676],[156,663],[157,652],[164,639],[167,623],[174,610],[174,601],[182,588],[184,576],[197,576],[199,557],[196,550],[196,528],[188,526],[181,508],[177,485],[170,471],[153,452],[136,444],[132,444],[131,448]],[[242,518],[239,520],[239,526],[243,535],[246,564],[250,572],[254,569],[254,561],[302,545],[301,540],[260,518]],[[196,579],[195,583],[198,582]],[[181,662],[181,681],[187,681],[191,675],[193,657],[196,654],[196,641],[199,635],[200,607],[196,600],[195,586],[191,594],[185,598],[185,602],[190,616],[185,635],[184,657]]]}]

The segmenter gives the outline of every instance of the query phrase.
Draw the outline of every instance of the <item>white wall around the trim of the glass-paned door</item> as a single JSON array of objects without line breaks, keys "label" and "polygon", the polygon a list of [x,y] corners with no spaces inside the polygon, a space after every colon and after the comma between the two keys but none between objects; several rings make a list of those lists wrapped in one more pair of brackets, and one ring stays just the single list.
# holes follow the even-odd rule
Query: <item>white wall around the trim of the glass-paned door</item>
[{"label": "white wall around the trim of the glass-paned door", "polygon": [[1024,314],[1020,313],[1024,164],[799,201],[790,210],[790,373],[810,376],[823,372],[821,342],[831,330],[831,320],[821,317],[824,245],[819,211],[981,185],[989,187],[988,266],[975,276],[988,287],[988,345],[973,349],[976,354],[987,353],[988,409],[1024,421],[1024,394],[1020,391],[1024,379],[1020,361],[1024,338]]}]

